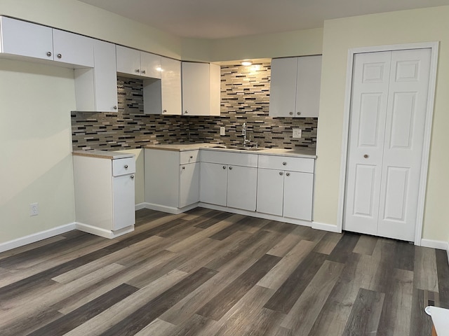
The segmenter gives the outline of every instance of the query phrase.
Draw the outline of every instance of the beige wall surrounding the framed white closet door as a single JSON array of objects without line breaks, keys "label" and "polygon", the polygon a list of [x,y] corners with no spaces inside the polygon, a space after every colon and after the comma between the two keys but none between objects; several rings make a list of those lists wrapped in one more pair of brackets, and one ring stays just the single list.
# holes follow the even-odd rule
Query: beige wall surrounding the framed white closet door
[{"label": "beige wall surrounding the framed white closet door", "polygon": [[349,48],[441,41],[423,238],[449,240],[449,6],[325,22],[314,220],[336,225]]}]

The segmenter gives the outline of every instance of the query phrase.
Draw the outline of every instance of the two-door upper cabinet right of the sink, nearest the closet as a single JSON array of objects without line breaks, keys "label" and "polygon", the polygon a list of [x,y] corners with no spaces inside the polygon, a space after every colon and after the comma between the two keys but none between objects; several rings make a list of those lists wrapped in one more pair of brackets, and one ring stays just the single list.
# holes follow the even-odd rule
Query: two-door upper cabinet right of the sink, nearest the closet
[{"label": "two-door upper cabinet right of the sink, nearest the closet", "polygon": [[321,55],[272,60],[269,116],[318,117]]}]

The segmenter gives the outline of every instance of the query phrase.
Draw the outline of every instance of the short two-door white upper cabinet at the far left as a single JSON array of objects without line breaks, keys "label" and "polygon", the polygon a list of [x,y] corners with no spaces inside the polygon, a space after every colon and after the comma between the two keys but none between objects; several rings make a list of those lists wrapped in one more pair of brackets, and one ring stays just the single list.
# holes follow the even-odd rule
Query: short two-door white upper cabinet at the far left
[{"label": "short two-door white upper cabinet at the far left", "polygon": [[51,27],[1,18],[1,52],[93,67],[93,39]]}]

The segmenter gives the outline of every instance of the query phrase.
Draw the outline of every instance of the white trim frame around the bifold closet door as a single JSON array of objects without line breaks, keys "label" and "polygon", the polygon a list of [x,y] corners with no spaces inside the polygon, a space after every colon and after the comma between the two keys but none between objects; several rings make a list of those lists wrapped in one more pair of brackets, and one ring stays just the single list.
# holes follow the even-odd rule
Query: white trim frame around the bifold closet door
[{"label": "white trim frame around the bifold closet door", "polygon": [[354,55],[362,52],[380,52],[390,50],[406,49],[431,49],[429,92],[427,99],[426,125],[424,125],[424,144],[422,147],[422,161],[420,174],[420,190],[417,202],[417,218],[415,228],[415,245],[422,244],[422,223],[424,221],[425,193],[427,187],[427,172],[429,169],[431,125],[434,116],[434,101],[436,90],[436,71],[438,65],[438,45],[439,42],[407,43],[397,45],[378,45],[372,47],[351,48],[348,50],[348,63],[346,75],[346,92],[344,95],[344,116],[343,116],[343,139],[342,139],[342,162],[340,165],[340,195],[338,199],[337,228],[343,228],[344,195],[346,191],[346,169],[349,141],[349,117],[351,110],[352,73],[354,65]]}]

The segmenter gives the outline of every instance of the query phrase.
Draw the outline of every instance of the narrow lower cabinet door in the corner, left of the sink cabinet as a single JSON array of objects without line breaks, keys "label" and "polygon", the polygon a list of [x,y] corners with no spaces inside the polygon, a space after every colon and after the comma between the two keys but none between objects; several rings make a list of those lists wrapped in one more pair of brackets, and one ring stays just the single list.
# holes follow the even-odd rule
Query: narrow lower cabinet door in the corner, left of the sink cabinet
[{"label": "narrow lower cabinet door in the corner, left of the sink cabinet", "polygon": [[180,165],[180,208],[199,202],[199,167],[199,163]]}]

